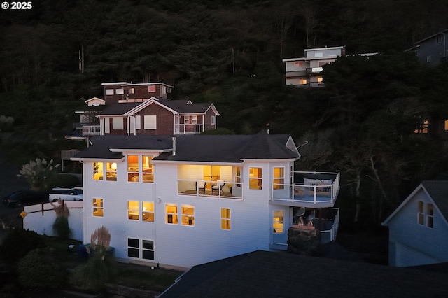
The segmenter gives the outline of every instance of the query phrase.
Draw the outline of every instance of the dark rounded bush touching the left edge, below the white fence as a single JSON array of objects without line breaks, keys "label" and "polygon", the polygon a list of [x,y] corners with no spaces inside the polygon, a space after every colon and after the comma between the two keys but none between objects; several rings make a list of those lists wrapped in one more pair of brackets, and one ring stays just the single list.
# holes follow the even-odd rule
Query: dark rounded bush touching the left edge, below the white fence
[{"label": "dark rounded bush touching the left edge, below the white fence", "polygon": [[0,246],[0,257],[8,263],[15,263],[27,255],[30,250],[41,248],[45,241],[29,229],[13,229],[3,239]]}]

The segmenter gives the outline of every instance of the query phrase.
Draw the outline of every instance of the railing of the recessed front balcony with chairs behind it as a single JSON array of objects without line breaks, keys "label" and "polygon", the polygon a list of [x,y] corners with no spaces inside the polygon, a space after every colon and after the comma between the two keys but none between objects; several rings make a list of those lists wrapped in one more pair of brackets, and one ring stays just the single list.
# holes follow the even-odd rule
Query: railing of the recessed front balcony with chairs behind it
[{"label": "railing of the recessed front balcony with chairs behind it", "polygon": [[181,195],[242,199],[243,183],[216,180],[177,180],[177,192]]}]

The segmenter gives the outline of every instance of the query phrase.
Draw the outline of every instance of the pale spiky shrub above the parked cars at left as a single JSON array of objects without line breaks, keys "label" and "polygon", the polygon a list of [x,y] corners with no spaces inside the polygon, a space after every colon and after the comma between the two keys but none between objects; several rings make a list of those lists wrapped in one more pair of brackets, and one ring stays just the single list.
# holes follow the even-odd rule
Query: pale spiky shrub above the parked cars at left
[{"label": "pale spiky shrub above the parked cars at left", "polygon": [[45,159],[36,158],[36,162],[30,160],[22,166],[18,177],[25,177],[33,190],[48,190],[55,175],[54,170],[59,166],[60,164],[53,165],[53,159],[47,162]]}]

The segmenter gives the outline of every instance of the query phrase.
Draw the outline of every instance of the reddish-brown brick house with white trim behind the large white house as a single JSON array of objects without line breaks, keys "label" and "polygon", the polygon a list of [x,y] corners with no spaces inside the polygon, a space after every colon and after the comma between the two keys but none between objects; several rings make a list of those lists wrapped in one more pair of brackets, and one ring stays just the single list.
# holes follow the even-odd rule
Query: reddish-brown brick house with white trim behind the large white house
[{"label": "reddish-brown brick house with white trim behind the large white house", "polygon": [[[211,103],[172,100],[174,87],[164,83],[103,83],[104,99],[87,99],[76,136],[107,134],[200,134],[216,129],[219,113]],[[101,107],[101,108],[98,108]],[[69,138],[67,138],[69,139]],[[73,139],[73,138],[72,138]]]}]

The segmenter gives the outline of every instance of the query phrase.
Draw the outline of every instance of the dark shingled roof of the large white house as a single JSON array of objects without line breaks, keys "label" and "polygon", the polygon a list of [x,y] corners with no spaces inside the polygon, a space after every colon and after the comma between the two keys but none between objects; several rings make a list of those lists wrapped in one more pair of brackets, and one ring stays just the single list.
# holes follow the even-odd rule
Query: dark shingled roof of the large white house
[{"label": "dark shingled roof of the large white house", "polygon": [[[291,151],[285,146],[288,138],[288,135],[266,133],[181,135],[176,136],[176,155],[166,152],[155,157],[154,160],[241,162],[243,158],[295,159],[299,157],[297,151]],[[172,150],[173,148],[172,136],[95,136],[91,141],[92,146],[78,153],[75,158],[113,158],[113,152],[109,150],[111,148],[144,150]]]}]

